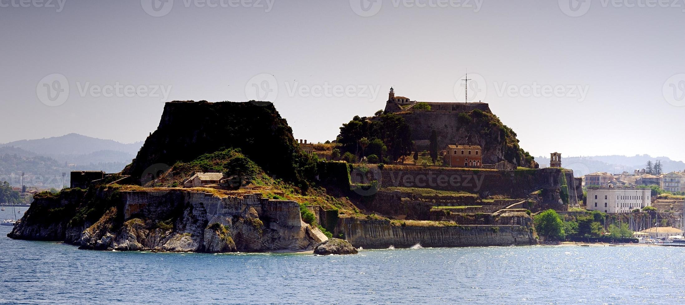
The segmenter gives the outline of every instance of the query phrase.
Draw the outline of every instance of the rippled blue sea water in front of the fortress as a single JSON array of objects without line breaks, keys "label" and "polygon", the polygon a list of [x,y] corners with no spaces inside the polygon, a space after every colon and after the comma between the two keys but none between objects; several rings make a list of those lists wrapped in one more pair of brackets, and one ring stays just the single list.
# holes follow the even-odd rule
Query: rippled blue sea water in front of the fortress
[{"label": "rippled blue sea water in front of the fortress", "polygon": [[[0,212],[0,219],[9,216]],[[6,237],[10,230],[0,226],[0,304],[685,302],[685,248],[426,248],[354,256],[99,252],[15,241]]]}]

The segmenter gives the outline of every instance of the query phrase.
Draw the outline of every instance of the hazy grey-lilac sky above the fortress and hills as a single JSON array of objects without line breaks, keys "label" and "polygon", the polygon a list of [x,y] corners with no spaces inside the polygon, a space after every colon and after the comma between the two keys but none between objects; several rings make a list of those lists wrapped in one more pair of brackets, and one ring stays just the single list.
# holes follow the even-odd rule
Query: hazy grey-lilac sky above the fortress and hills
[{"label": "hazy grey-lilac sky above the fortress and hills", "polygon": [[390,86],[464,101],[468,69],[532,155],[685,160],[685,0],[47,2],[0,0],[1,143],[136,142],[164,101],[256,94],[323,142]]}]

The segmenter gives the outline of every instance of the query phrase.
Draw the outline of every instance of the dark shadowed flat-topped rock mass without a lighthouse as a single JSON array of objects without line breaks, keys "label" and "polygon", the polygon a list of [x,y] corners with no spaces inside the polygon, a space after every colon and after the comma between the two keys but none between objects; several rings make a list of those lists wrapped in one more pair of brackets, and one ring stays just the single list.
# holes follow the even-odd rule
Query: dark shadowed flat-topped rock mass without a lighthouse
[{"label": "dark shadowed flat-topped rock mass without a lighthouse", "polygon": [[[292,129],[271,103],[170,102],[152,133],[124,174],[140,181],[155,164],[192,161],[221,148],[240,148],[269,174],[299,184],[313,173],[299,170],[303,157]],[[157,166],[164,168],[164,166]]]}]

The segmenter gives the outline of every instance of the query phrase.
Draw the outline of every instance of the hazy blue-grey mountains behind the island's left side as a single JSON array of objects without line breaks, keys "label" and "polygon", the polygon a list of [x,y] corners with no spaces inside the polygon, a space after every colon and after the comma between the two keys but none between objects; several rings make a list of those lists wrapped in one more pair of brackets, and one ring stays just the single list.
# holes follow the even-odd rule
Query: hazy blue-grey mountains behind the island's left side
[{"label": "hazy blue-grey mountains behind the island's left side", "polygon": [[0,144],[0,181],[19,187],[25,172],[27,186],[61,188],[62,172],[67,173],[66,185],[72,170],[120,172],[140,146],[142,142],[123,144],[77,133]]}]

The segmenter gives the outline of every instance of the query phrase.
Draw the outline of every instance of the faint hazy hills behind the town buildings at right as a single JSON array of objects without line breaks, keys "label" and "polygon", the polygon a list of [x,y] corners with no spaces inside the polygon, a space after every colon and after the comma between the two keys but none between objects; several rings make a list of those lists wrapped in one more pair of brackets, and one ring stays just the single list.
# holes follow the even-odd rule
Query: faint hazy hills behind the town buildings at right
[{"label": "faint hazy hills behind the town buildings at right", "polygon": [[[662,172],[685,170],[685,163],[673,161],[669,157],[651,157],[650,155],[635,155],[632,157],[621,155],[591,156],[591,157],[563,157],[562,167],[573,170],[574,176],[583,176],[592,172],[608,172],[620,174],[621,172],[633,172],[647,166],[647,161],[661,160]],[[549,157],[536,157],[540,168],[549,166]]]}]

